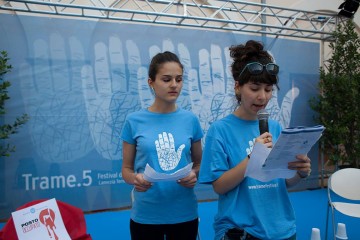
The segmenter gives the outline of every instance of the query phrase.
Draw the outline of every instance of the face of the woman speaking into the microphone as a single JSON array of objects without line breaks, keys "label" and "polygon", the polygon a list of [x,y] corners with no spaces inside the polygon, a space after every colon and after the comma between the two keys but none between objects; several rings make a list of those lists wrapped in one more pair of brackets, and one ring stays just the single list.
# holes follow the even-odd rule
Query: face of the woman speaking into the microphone
[{"label": "face of the woman speaking into the microphone", "polygon": [[242,86],[236,84],[235,90],[241,96],[240,109],[245,114],[244,117],[255,119],[257,112],[264,109],[271,99],[273,85],[248,82]]}]

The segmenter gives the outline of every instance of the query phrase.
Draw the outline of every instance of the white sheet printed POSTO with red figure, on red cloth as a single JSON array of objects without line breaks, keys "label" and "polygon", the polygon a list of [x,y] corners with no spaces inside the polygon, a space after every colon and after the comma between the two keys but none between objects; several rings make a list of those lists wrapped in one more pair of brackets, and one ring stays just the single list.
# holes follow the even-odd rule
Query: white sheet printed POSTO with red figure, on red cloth
[{"label": "white sheet printed POSTO with red figure, on red cloth", "polygon": [[55,198],[12,213],[21,240],[71,240]]}]

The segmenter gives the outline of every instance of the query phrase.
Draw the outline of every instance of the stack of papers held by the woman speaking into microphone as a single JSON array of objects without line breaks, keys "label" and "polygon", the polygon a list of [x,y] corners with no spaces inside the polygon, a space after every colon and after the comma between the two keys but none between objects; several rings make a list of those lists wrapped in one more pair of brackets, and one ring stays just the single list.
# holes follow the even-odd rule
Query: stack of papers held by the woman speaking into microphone
[{"label": "stack of papers held by the woman speaking into microphone", "polygon": [[321,125],[286,128],[281,132],[273,148],[256,143],[245,176],[263,182],[274,178],[293,177],[295,171],[288,169],[288,162],[294,161],[298,154],[307,154],[319,140],[324,129]]}]

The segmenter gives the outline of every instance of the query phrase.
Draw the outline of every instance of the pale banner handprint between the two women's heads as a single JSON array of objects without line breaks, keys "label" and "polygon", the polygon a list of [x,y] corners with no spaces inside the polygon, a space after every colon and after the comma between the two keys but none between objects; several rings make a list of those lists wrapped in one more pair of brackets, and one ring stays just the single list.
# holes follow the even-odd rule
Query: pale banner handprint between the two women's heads
[{"label": "pale banner handprint between the two women's heads", "polygon": [[[225,117],[234,110],[234,80],[229,71],[229,54],[212,44],[210,53],[207,49],[199,51],[199,66],[194,66],[190,52],[184,44],[179,44],[180,60],[185,67],[185,79],[189,81],[189,95],[192,111],[198,115],[206,133],[210,124]],[[223,63],[225,57],[226,63]]]}]

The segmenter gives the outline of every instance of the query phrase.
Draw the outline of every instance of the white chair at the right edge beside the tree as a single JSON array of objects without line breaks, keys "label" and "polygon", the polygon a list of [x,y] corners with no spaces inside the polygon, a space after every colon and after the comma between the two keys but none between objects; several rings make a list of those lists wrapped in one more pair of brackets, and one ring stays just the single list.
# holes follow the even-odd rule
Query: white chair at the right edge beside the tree
[{"label": "white chair at the right edge beside the tree", "polygon": [[[335,197],[337,194],[341,197]],[[334,201],[335,200],[335,201]],[[335,211],[344,215],[360,218],[360,169],[344,168],[334,172],[328,179],[328,207],[326,232],[328,235],[329,208],[332,213],[333,236],[335,239]]]}]

